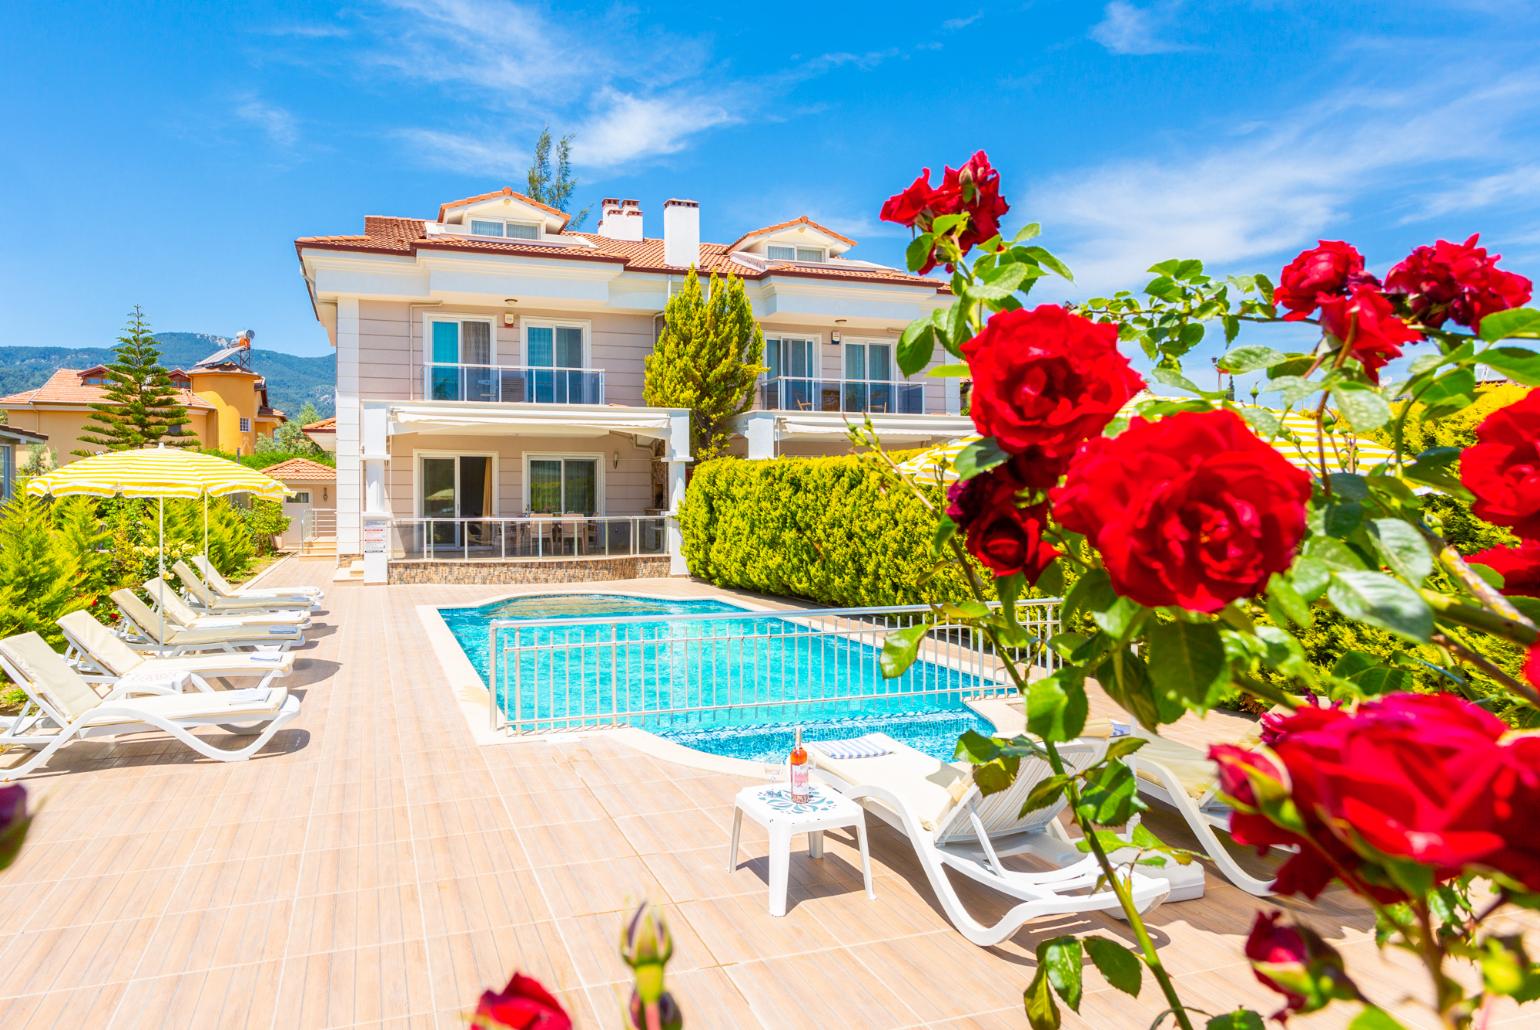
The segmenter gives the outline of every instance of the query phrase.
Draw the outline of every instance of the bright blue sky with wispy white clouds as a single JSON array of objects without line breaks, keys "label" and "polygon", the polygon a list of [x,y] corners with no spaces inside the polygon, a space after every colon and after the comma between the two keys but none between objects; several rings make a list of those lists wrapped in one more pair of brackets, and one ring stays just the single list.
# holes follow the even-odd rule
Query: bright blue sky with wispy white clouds
[{"label": "bright blue sky with wispy white clouds", "polygon": [[[1269,271],[1318,236],[1435,237],[1540,279],[1540,8],[1466,3],[6,5],[0,343],[257,329],[325,353],[293,240],[519,188],[807,214],[901,262],[882,199],[975,148],[1076,271]],[[593,219],[590,219],[591,228]],[[1058,299],[1049,296],[1046,299]]]}]

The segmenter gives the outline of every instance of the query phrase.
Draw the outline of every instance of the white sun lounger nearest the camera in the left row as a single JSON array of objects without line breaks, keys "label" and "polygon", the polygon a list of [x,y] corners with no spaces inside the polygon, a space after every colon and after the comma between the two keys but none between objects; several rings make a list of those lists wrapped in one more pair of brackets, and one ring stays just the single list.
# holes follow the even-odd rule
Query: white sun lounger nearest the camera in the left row
[{"label": "white sun lounger nearest the camera in the left row", "polygon": [[[20,765],[0,768],[0,781],[26,776],[79,737],[154,730],[205,757],[240,762],[299,714],[299,699],[290,697],[282,687],[139,696],[134,687],[120,685],[102,697],[35,633],[0,640],[0,668],[28,699],[18,714],[0,719],[0,745],[35,751]],[[192,733],[208,727],[257,736],[243,747],[222,748]]]}]

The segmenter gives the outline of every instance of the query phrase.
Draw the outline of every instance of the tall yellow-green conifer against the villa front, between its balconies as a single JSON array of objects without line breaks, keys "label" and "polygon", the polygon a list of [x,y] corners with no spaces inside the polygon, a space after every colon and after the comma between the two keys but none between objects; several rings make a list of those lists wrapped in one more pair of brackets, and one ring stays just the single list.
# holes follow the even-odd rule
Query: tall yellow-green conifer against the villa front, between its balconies
[{"label": "tall yellow-green conifer against the villa front, between its balconies", "polygon": [[684,288],[664,308],[664,329],[645,359],[644,402],[690,410],[690,454],[721,454],[728,420],[748,411],[755,382],[765,371],[765,337],[736,276],[711,276],[710,300],[691,268]]}]

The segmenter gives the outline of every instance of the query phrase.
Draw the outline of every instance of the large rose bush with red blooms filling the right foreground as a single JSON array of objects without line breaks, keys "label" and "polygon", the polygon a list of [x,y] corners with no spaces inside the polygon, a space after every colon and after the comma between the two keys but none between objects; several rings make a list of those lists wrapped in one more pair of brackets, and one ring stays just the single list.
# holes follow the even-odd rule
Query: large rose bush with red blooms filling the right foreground
[{"label": "large rose bush with red blooms filling the right foreground", "polygon": [[[1525,306],[1529,280],[1474,236],[1418,246],[1383,277],[1349,243],[1321,242],[1277,285],[1212,277],[1184,259],[1150,268],[1137,294],[1030,306],[1041,279],[1069,269],[1032,242],[1036,225],[1001,236],[1007,211],[984,152],[939,185],[927,169],[882,208],[915,232],[912,269],[952,274],[953,303],[904,331],[899,366],[909,376],[936,348],[952,354],[932,374],[972,380],[983,437],[955,460],[933,539],[936,562],[967,577],[975,600],[938,604],[926,625],[892,634],[884,665],[901,673],[938,625],[978,627],[1026,699],[1029,736],[970,733],[959,757],[984,791],[1006,788],[1023,757],[1044,757],[1056,774],[1027,807],[1066,799],[1123,901],[1132,948],[1100,935],[1038,947],[1030,1024],[1056,1027],[1061,1004],[1078,1007],[1086,956],[1132,995],[1152,978],[1157,1024],[1263,1022],[1189,1005],[1135,910],[1115,853],[1192,856],[1144,828],[1124,833],[1144,808],[1121,761],[1140,736],[1113,739],[1083,773],[1066,770],[1060,745],[1084,728],[1093,688],[1149,731],[1227,693],[1249,696],[1269,711],[1261,742],[1210,756],[1234,839],[1294,848],[1275,891],[1312,899],[1341,884],[1361,898],[1381,945],[1424,970],[1418,996],[1440,1025],[1480,1025],[1502,996],[1540,998],[1540,967],[1498,928],[1500,913],[1540,907],[1540,737],[1515,728],[1540,705],[1540,391],[1523,390],[1540,385],[1540,311]],[[1266,406],[1197,385],[1183,362],[1206,339],[1223,340],[1220,371],[1254,379]],[[1153,383],[1124,348],[1143,353]],[[1478,422],[1472,445],[1438,445],[1438,425],[1458,420],[1491,374],[1517,383],[1511,399]],[[1294,437],[1286,413],[1306,413],[1314,437]],[[1327,448],[1344,431],[1383,434],[1394,457],[1335,471]],[[1309,450],[1314,474],[1283,456],[1291,446]],[[1451,503],[1518,543],[1461,554],[1441,522]],[[1033,639],[1016,599],[1066,584],[1070,631]],[[1397,648],[1321,667],[1301,644],[1318,622],[1388,636],[1423,674],[1406,676]],[[1029,677],[1046,648],[1060,667]],[[1283,913],[1257,918],[1246,955],[1278,993],[1280,1021],[1340,1005],[1354,1027],[1401,1025],[1388,1012],[1401,999],[1366,996],[1343,958]]]}]

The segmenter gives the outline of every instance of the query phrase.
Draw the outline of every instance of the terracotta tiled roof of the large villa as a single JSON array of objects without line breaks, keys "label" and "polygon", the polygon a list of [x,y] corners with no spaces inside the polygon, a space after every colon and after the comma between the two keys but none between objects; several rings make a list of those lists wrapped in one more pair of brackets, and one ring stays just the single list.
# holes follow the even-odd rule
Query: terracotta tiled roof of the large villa
[{"label": "terracotta tiled roof of the large villa", "polygon": [[[496,196],[496,194],[493,194]],[[798,225],[802,220],[785,222],[785,225]],[[807,225],[815,225],[807,222]],[[748,236],[758,232],[773,231],[755,229]],[[824,232],[822,226],[816,226]],[[681,273],[684,268],[681,265],[668,265],[664,262],[664,242],[661,239],[642,239],[642,240],[613,240],[598,232],[562,232],[564,237],[576,237],[585,240],[590,246],[553,246],[550,243],[531,243],[527,240],[485,240],[471,239],[464,236],[428,236],[427,223],[422,219],[390,219],[382,216],[370,216],[363,220],[363,236],[302,236],[294,240],[296,252],[303,252],[306,246],[316,246],[323,249],[339,249],[339,251],[363,251],[371,254],[413,254],[422,249],[445,249],[445,251],[474,251],[479,254],[517,254],[521,257],[550,257],[559,260],[582,260],[582,262],[616,262],[625,265],[631,271],[642,273]],[[832,232],[832,236],[838,236]],[[842,282],[873,282],[873,283],[890,283],[904,286],[929,286],[938,293],[947,293],[947,283],[927,279],[922,276],[910,276],[909,273],[899,271],[896,268],[884,268],[879,265],[865,265],[861,262],[850,262],[842,257],[832,257],[819,265],[813,263],[792,263],[792,262],[767,262],[765,268],[752,268],[732,257],[733,248],[742,242],[727,243],[701,243],[701,263],[699,269],[702,273],[733,273],[739,279],[767,279],[770,276],[790,276],[793,279],[833,279]],[[844,237],[839,237],[844,239]]]}]

